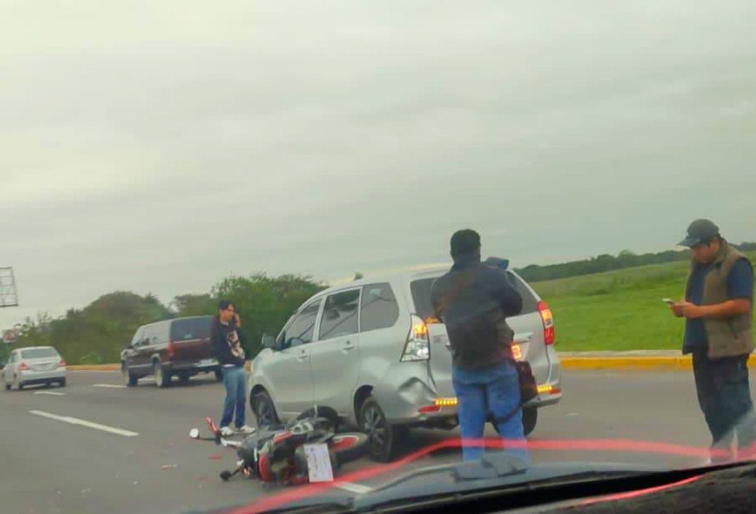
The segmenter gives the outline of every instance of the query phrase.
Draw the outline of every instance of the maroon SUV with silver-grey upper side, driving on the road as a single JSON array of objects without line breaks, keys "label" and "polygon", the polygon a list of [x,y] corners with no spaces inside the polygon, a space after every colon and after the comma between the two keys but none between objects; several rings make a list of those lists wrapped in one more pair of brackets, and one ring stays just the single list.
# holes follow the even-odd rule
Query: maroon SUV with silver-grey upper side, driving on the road
[{"label": "maroon SUV with silver-grey upper side, driving on the road", "polygon": [[139,327],[130,345],[121,352],[121,371],[126,385],[137,385],[143,376],[154,375],[158,387],[168,387],[173,376],[182,384],[197,373],[215,373],[221,368],[210,344],[212,316],[177,317]]}]

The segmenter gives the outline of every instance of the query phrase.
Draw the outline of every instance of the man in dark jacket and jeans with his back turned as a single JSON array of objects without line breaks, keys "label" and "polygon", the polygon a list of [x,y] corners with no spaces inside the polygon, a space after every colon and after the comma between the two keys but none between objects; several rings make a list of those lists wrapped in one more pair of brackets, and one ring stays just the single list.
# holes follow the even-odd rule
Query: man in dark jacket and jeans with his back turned
[{"label": "man in dark jacket and jeans with his back turned", "polygon": [[507,272],[480,259],[476,231],[451,237],[454,266],[432,288],[436,316],[446,324],[453,360],[452,379],[463,438],[463,459],[476,460],[483,447],[488,414],[494,416],[505,451],[528,460],[522,431],[522,406],[512,356],[513,330],[507,316],[522,311],[522,298]]}]

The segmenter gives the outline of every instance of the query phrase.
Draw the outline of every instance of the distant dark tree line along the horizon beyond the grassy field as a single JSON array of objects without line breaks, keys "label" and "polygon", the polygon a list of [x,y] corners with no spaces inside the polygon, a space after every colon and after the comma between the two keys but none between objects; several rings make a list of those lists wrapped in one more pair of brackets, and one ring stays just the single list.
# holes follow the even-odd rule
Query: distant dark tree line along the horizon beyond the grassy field
[{"label": "distant dark tree line along the horizon beyond the grassy field", "polygon": [[[742,252],[756,250],[756,243],[741,243],[733,246]],[[603,273],[604,271],[635,268],[637,266],[664,264],[665,262],[686,261],[688,259],[690,259],[690,252],[686,249],[644,253],[643,255],[637,255],[631,252],[631,250],[622,250],[616,257],[614,255],[603,254],[582,261],[562,262],[561,264],[546,266],[529,265],[525,266],[525,268],[518,268],[515,271],[528,282],[541,282],[542,280],[577,277],[579,275]]]}]

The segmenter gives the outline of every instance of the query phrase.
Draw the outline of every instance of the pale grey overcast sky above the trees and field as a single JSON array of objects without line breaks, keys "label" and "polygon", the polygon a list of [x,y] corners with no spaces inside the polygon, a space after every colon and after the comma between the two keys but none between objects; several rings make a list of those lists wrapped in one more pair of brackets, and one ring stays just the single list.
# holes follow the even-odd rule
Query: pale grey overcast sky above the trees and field
[{"label": "pale grey overcast sky above the trees and field", "polygon": [[26,315],[756,240],[756,2],[3,2],[0,265]]}]

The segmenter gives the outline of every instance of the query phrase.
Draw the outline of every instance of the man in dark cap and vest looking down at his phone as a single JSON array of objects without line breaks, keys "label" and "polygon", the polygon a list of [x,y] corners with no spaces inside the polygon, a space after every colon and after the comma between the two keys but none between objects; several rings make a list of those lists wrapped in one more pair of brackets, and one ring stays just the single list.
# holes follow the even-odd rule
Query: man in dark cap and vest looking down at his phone
[{"label": "man in dark cap and vest looking down at his phone", "polygon": [[748,388],[753,267],[706,219],[693,221],[680,245],[690,248],[692,265],[685,299],[671,310],[686,318],[683,354],[692,354],[699,405],[711,432],[711,462],[733,460],[734,435],[742,452],[756,441]]}]

